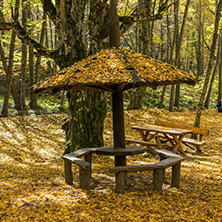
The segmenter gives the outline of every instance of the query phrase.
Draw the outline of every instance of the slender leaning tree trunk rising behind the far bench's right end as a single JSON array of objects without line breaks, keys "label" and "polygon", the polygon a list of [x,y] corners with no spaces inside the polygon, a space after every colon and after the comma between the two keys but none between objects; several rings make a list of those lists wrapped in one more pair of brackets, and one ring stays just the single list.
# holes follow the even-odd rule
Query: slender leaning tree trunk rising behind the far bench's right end
[{"label": "slender leaning tree trunk rising behind the far bench's right end", "polygon": [[214,54],[215,54],[215,50],[216,50],[217,36],[218,36],[217,33],[218,33],[221,8],[222,8],[222,0],[219,1],[217,8],[216,8],[214,33],[213,33],[213,40],[212,40],[212,46],[211,46],[211,52],[210,52],[210,59],[209,59],[209,63],[208,63],[207,71],[206,71],[204,86],[203,86],[202,93],[201,93],[199,103],[197,106],[197,110],[196,110],[196,116],[195,116],[195,121],[194,121],[195,127],[200,126],[200,119],[201,119],[201,114],[202,114],[202,109],[203,109],[204,98],[206,96],[207,86],[209,83],[210,74],[211,74],[213,61],[214,61]]}]

